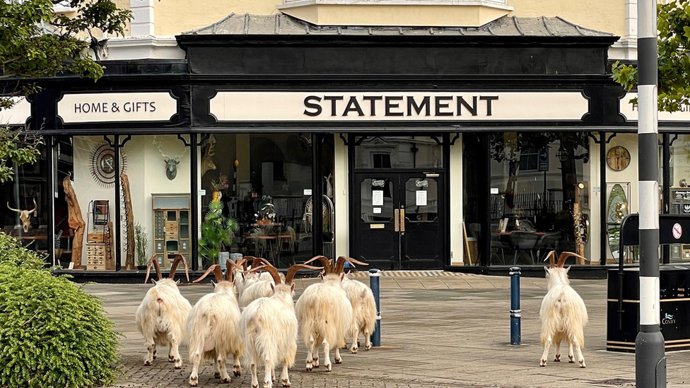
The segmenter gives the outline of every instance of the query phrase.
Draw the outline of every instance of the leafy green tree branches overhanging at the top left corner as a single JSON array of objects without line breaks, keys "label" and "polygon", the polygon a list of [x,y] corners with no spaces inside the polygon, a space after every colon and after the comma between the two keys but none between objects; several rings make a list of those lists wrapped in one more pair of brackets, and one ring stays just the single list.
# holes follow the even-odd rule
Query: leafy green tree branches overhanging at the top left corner
[{"label": "leafy green tree branches overhanging at the top left corner", "polygon": [[[58,4],[76,13],[55,14]],[[105,42],[93,34],[123,34],[130,18],[131,11],[114,0],[0,1],[0,112],[35,93],[39,78],[76,74],[98,80],[104,68],[90,49],[98,57]],[[13,163],[35,163],[40,155],[40,136],[26,135],[0,127],[0,183],[13,179]]]}]

